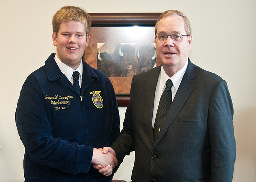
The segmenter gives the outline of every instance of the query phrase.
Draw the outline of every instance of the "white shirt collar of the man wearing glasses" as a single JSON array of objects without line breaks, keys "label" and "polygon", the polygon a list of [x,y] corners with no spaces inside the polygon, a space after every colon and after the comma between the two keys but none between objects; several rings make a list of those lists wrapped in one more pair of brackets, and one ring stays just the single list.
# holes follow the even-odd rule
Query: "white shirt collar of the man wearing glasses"
[{"label": "white shirt collar of the man wearing glasses", "polygon": [[165,89],[165,83],[168,79],[172,80],[173,82],[173,86],[175,88],[175,90],[177,91],[179,86],[180,86],[180,83],[181,83],[181,80],[187,70],[187,65],[188,65],[188,59],[185,63],[185,65],[177,72],[175,73],[172,77],[169,77],[164,69],[163,69],[163,66],[161,66],[161,71],[160,71],[160,90],[163,91]]}]

